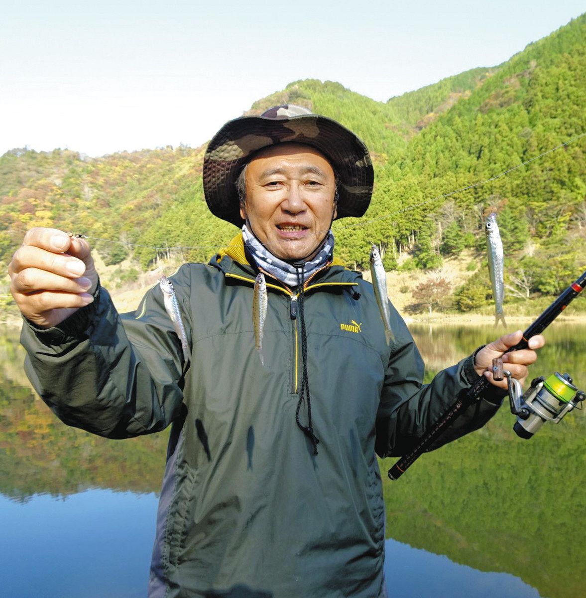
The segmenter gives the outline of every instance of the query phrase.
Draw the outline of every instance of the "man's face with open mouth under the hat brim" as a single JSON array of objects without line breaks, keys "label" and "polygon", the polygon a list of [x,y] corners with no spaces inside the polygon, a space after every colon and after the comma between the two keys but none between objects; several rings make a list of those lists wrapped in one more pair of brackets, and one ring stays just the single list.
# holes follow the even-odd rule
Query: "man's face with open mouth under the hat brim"
[{"label": "man's face with open mouth under the hat brim", "polygon": [[335,177],[326,158],[312,147],[272,145],[248,163],[246,198],[240,215],[259,241],[282,260],[312,254],[329,230]]}]

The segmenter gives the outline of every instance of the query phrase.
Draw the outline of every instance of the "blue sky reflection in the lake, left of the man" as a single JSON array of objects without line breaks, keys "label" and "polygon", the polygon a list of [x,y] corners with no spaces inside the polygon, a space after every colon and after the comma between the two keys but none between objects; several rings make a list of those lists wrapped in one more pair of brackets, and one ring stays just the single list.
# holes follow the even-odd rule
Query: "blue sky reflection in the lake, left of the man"
[{"label": "blue sky reflection in the lake, left of the man", "polygon": [[156,508],[155,495],[111,490],[0,496],[2,596],[146,596]]}]

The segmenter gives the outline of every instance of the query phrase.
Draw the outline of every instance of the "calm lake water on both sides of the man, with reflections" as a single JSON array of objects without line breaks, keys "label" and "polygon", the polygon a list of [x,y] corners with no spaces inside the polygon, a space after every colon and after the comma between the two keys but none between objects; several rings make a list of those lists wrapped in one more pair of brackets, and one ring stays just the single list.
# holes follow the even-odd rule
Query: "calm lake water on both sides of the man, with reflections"
[{"label": "calm lake water on both sides of the man, with reflections", "polygon": [[[495,337],[493,327],[411,327],[428,376]],[[586,327],[546,332],[530,377],[586,387]],[[62,425],[23,374],[18,332],[0,328],[1,594],[146,595],[166,433],[108,441]],[[425,454],[400,480],[381,462],[389,596],[585,595],[586,417],[530,441],[505,405],[481,431]]]}]

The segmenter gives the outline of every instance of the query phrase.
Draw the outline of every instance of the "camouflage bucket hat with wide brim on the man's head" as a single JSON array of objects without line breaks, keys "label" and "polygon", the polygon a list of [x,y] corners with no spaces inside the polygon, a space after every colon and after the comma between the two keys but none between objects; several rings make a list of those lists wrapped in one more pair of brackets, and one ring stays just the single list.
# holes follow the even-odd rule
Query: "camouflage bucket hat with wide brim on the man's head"
[{"label": "camouflage bucket hat with wide brim on the man's head", "polygon": [[236,181],[254,153],[283,143],[311,145],[338,176],[338,218],[362,216],[370,203],[374,171],[366,145],[331,118],[302,106],[274,106],[260,116],[226,123],[210,141],[204,157],[204,194],[211,213],[240,227]]}]

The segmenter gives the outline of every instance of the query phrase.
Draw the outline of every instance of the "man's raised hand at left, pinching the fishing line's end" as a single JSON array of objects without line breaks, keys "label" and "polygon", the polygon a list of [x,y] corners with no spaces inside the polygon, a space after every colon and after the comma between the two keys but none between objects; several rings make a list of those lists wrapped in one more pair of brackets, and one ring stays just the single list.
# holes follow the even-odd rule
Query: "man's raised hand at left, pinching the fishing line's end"
[{"label": "man's raised hand at left, pinching the fishing line's end", "polygon": [[10,292],[23,316],[50,328],[90,304],[98,275],[85,239],[32,228],[8,265]]}]

